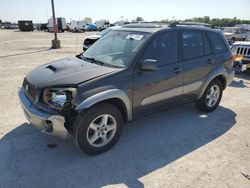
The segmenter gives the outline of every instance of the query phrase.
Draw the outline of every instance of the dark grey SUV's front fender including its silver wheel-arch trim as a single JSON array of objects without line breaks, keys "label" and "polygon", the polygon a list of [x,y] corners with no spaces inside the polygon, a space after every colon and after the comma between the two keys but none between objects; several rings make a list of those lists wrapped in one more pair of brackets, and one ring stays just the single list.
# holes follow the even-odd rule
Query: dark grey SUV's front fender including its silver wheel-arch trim
[{"label": "dark grey SUV's front fender including its silver wheel-arch trim", "polygon": [[75,110],[81,111],[108,99],[120,99],[126,107],[128,120],[132,119],[132,76],[129,69],[79,85],[73,105]]}]

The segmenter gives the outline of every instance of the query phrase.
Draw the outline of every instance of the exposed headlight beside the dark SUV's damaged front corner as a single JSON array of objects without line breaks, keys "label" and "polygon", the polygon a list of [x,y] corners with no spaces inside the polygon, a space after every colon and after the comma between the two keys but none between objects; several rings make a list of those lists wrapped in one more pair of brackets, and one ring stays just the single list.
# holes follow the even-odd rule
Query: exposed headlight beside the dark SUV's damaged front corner
[{"label": "exposed headlight beside the dark SUV's damaged front corner", "polygon": [[75,88],[48,88],[44,90],[43,101],[50,107],[61,110],[71,103],[75,95]]}]

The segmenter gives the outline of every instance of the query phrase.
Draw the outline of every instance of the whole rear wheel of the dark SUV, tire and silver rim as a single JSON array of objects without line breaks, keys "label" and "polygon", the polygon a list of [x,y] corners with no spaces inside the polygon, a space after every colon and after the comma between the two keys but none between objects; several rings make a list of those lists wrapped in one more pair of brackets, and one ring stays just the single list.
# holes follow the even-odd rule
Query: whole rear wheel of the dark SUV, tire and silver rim
[{"label": "whole rear wheel of the dark SUV, tire and silver rim", "polygon": [[196,101],[196,107],[202,112],[211,112],[218,107],[222,94],[222,83],[215,79],[208,85],[202,97]]}]

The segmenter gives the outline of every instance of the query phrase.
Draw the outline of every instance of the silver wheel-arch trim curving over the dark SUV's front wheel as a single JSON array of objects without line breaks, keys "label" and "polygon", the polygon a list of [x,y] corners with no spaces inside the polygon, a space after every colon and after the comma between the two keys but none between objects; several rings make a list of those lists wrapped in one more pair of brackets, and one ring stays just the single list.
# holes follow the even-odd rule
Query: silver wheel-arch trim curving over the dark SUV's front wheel
[{"label": "silver wheel-arch trim curving over the dark SUV's front wheel", "polygon": [[83,109],[91,107],[92,105],[98,102],[101,102],[107,99],[112,99],[112,98],[118,98],[123,101],[127,110],[128,121],[132,120],[131,101],[129,100],[129,97],[127,96],[127,94],[120,89],[110,89],[110,90],[92,95],[89,98],[85,99],[81,104],[79,104],[76,107],[76,110],[83,110]]}]

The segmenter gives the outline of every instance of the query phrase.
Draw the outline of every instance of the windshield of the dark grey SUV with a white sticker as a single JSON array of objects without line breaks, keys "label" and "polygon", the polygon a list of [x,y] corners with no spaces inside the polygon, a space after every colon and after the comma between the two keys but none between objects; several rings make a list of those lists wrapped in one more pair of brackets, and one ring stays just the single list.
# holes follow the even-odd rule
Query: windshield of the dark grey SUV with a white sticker
[{"label": "windshield of the dark grey SUV with a white sticker", "polygon": [[131,31],[110,31],[83,54],[102,65],[128,67],[147,34]]}]

